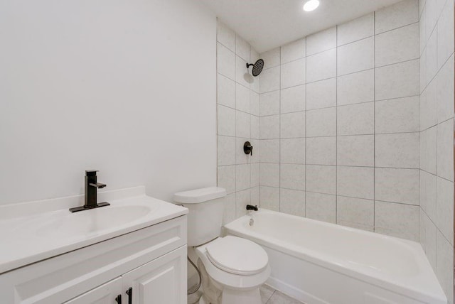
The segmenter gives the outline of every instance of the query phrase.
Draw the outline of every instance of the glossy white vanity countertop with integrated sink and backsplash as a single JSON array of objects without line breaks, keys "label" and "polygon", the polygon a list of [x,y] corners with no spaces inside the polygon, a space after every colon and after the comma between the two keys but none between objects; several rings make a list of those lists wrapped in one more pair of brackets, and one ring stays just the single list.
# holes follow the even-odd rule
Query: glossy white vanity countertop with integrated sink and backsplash
[{"label": "glossy white vanity countertop with integrated sink and backsplash", "polygon": [[0,206],[0,274],[188,213],[146,196],[144,187],[99,192],[110,206],[71,213],[83,198]]}]

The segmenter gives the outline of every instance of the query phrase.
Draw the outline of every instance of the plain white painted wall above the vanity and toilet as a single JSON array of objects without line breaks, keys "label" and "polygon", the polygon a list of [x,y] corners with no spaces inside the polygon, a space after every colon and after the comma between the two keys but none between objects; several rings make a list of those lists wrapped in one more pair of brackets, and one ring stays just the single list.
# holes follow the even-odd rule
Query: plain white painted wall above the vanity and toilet
[{"label": "plain white painted wall above the vanity and toilet", "polygon": [[216,19],[197,1],[1,1],[0,205],[216,183]]}]

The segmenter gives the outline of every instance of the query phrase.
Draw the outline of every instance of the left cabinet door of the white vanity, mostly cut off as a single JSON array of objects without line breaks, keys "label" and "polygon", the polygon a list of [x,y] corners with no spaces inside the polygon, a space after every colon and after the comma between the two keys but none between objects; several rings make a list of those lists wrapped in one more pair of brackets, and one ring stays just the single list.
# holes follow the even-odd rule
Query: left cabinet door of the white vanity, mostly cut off
[{"label": "left cabinet door of the white vanity, mostly cut off", "polygon": [[[115,278],[102,286],[82,293],[73,300],[65,302],[65,304],[115,304],[115,298],[122,293],[122,278]],[[122,296],[123,298],[123,296]],[[128,303],[122,301],[122,303]]]}]

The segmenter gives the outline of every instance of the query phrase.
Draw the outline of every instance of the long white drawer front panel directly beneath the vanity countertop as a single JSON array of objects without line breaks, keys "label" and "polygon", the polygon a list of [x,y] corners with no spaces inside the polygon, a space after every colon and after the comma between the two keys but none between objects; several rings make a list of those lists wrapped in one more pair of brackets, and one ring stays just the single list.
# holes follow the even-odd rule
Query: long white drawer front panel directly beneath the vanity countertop
[{"label": "long white drawer front panel directly beneath the vanity countertop", "polygon": [[4,273],[2,300],[63,303],[181,246],[186,246],[186,216]]}]

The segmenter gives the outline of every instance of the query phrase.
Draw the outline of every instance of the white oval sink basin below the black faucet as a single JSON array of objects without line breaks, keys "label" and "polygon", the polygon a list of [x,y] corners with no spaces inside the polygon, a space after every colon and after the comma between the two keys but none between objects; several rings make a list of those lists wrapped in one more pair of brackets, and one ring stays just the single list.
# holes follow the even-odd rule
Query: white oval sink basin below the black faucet
[{"label": "white oval sink basin below the black faucet", "polygon": [[86,235],[96,234],[106,229],[118,228],[146,217],[156,206],[107,206],[77,213],[68,213],[64,217],[55,217],[38,227],[38,236],[49,235]]}]

